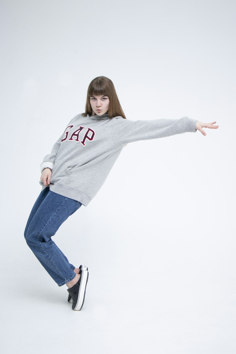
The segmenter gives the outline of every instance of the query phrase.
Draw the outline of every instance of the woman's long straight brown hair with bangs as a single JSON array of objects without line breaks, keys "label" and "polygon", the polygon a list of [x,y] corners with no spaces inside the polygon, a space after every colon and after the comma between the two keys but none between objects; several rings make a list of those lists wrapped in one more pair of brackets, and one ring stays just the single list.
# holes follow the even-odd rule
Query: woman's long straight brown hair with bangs
[{"label": "woman's long straight brown hair with bangs", "polygon": [[110,79],[106,78],[105,76],[98,76],[97,78],[93,79],[90,82],[88,86],[88,92],[87,92],[85,112],[82,113],[84,117],[87,116],[87,114],[91,116],[93,113],[90,104],[90,97],[101,96],[101,95],[109,97],[109,101],[110,101],[109,109],[108,109],[109,118],[113,118],[119,115],[124,119],[126,119],[126,116],[121,108],[119,99],[117,97],[114,84]]}]

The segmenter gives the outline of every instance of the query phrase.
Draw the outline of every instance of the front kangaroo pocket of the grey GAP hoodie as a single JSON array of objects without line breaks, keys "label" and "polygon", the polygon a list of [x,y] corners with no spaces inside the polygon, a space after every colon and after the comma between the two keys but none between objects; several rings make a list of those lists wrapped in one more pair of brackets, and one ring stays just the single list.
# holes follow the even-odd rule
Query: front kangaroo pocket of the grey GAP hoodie
[{"label": "front kangaroo pocket of the grey GAP hoodie", "polygon": [[70,170],[77,165],[73,160],[56,160],[52,169],[51,183],[66,183],[71,176]]}]

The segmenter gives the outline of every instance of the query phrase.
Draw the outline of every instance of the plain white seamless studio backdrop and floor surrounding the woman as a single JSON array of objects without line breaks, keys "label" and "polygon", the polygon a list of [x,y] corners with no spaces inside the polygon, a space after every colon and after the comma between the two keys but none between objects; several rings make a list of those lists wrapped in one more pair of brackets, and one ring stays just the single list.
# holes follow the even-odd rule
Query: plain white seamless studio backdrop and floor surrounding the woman
[{"label": "plain white seamless studio backdrop and floor surrounding the woman", "polygon": [[[1,0],[4,353],[233,354],[233,0]],[[126,118],[216,121],[133,142],[53,240],[89,280],[72,311],[24,228],[40,164],[107,76]]]}]

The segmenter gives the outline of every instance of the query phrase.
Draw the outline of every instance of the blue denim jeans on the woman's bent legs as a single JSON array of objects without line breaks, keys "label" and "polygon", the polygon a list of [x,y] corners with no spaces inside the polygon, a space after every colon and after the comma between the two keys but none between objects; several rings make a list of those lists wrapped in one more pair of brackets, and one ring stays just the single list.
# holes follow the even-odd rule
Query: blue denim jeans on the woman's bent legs
[{"label": "blue denim jeans on the woman's bent legs", "polygon": [[73,272],[74,265],[69,263],[51,237],[81,205],[80,201],[54,193],[46,187],[35,201],[25,227],[27,245],[58,286],[68,283],[76,274]]}]

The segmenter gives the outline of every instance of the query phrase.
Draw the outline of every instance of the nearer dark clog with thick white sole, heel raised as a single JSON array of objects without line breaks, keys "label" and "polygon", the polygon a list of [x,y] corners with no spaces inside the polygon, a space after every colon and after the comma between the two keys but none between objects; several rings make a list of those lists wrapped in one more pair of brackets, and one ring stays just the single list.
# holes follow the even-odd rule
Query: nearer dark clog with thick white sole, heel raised
[{"label": "nearer dark clog with thick white sole, heel raised", "polygon": [[72,297],[72,310],[80,311],[85,301],[85,290],[88,282],[88,271],[83,268],[80,270],[80,279],[78,282],[67,289]]}]

